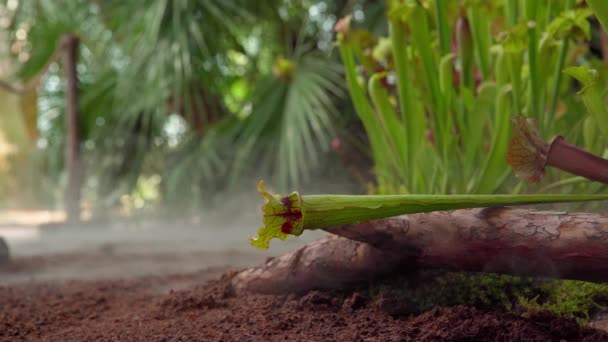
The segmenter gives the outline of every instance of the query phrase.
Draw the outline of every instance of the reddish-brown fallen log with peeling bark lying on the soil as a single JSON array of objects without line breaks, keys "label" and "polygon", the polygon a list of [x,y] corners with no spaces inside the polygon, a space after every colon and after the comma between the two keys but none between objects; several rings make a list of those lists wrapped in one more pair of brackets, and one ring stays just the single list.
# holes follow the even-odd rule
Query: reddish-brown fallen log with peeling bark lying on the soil
[{"label": "reddish-brown fallen log with peeling bark lying on the soil", "polygon": [[608,281],[608,216],[513,208],[403,215],[332,228],[240,272],[237,291],[342,288],[416,266]]}]

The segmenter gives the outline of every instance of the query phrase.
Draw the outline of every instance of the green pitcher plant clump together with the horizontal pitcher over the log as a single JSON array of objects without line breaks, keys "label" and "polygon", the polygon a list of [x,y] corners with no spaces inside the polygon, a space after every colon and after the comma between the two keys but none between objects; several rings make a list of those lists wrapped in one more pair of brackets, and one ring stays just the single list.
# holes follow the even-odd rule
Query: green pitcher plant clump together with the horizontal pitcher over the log
[{"label": "green pitcher plant clump together with the horizontal pitcher over the log", "polygon": [[[589,151],[601,153],[608,137],[608,58],[593,57],[586,41],[593,32],[608,40],[600,26],[608,5],[587,3],[389,0],[386,37],[355,28],[351,17],[339,21],[337,46],[379,194],[284,196],[260,182],[264,227],[251,243],[265,249],[307,229],[401,214],[608,198],[565,187],[606,183],[568,162],[606,168]],[[558,137],[549,143],[547,135]],[[546,166],[575,175],[555,174],[545,186],[566,194],[518,194],[530,189],[513,175],[538,183]]]}]

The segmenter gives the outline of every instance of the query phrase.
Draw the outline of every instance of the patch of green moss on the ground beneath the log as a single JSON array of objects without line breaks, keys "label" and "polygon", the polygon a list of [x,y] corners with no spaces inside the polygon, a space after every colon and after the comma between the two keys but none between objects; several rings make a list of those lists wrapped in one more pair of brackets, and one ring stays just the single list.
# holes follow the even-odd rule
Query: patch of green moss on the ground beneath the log
[{"label": "patch of green moss on the ground beneath the log", "polygon": [[374,282],[367,290],[372,300],[407,300],[418,313],[454,305],[515,313],[549,310],[584,324],[608,307],[608,285],[484,273],[425,270]]}]

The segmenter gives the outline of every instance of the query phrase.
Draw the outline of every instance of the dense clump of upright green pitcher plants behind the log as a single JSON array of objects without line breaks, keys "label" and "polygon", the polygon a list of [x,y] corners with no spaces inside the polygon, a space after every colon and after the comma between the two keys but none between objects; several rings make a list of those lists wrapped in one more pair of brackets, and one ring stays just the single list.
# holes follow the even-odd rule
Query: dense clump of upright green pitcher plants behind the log
[{"label": "dense clump of upright green pitcher plants behind the log", "polygon": [[[432,2],[388,1],[388,37],[372,37],[350,18],[337,27],[379,193],[538,191],[516,184],[505,163],[514,115],[536,119],[543,135],[564,134],[602,154],[591,122],[608,129],[597,90],[606,78],[591,69],[600,61],[581,51],[591,38],[591,10],[573,1]],[[587,110],[564,70],[583,83]],[[563,177],[551,175],[544,187],[600,188]]]}]

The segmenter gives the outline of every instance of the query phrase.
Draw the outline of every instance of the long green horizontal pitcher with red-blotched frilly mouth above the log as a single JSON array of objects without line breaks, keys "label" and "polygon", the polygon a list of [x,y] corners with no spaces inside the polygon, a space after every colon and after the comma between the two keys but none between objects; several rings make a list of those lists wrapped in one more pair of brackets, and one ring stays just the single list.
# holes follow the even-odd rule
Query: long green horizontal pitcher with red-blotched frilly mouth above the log
[{"label": "long green horizontal pitcher with red-blotched frilly mouth above the log", "polygon": [[339,227],[391,216],[488,206],[608,199],[608,195],[289,195],[273,194],[262,182],[258,191],[264,227],[251,238],[253,246],[268,249],[270,240],[285,240],[304,230]]}]

